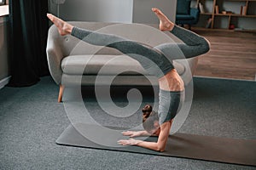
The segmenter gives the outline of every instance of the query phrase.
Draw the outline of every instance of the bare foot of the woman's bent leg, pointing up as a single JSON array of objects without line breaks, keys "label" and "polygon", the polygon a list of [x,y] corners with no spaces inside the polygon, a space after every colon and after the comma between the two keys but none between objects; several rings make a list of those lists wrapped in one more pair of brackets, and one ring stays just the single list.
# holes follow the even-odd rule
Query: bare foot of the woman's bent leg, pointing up
[{"label": "bare foot of the woman's bent leg, pointing up", "polygon": [[158,8],[152,8],[152,11],[158,19],[160,20],[159,29],[160,31],[172,31],[174,24],[171,20],[169,20],[165,14],[163,14],[160,9]]}]

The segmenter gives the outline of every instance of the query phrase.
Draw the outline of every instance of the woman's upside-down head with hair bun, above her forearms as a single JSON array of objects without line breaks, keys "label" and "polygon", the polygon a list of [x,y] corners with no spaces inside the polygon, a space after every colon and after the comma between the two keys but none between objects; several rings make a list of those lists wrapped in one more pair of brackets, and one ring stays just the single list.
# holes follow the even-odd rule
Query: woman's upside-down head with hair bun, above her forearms
[{"label": "woman's upside-down head with hair bun, above her forearms", "polygon": [[151,105],[145,105],[143,107],[143,127],[148,133],[159,133],[159,116],[156,111],[152,110]]}]

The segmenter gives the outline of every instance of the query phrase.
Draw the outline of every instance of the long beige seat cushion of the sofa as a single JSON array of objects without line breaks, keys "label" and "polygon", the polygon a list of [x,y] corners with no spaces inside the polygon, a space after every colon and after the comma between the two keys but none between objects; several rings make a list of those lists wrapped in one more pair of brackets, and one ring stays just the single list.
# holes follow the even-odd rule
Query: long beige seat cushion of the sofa
[{"label": "long beige seat cushion of the sofa", "polygon": [[[182,75],[184,66],[177,62],[173,65]],[[61,69],[68,75],[148,75],[136,59],[127,55],[71,55],[62,59]]]}]

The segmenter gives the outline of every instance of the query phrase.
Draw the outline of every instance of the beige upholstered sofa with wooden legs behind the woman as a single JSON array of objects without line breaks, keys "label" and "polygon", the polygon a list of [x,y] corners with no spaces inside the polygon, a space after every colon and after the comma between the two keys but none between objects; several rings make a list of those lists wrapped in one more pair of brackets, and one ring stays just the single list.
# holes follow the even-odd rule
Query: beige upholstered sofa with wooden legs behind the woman
[{"label": "beige upholstered sofa with wooden legs behind the woman", "polygon": [[[146,26],[147,29],[142,31],[141,26],[117,25],[114,23],[102,22],[70,22],[73,26],[86,28],[92,31],[104,32],[110,30],[127,38],[136,38],[136,41],[145,42],[155,45],[155,37],[150,31],[155,31],[157,26]],[[127,29],[124,29],[125,27]],[[131,28],[130,28],[130,27]],[[104,28],[113,28],[105,29]],[[148,29],[149,28],[149,29]],[[152,28],[152,30],[151,30]],[[132,31],[131,31],[132,30]],[[137,36],[137,32],[140,36]],[[148,32],[147,32],[148,31]],[[108,32],[107,32],[108,33]],[[113,32],[114,33],[114,32]],[[141,35],[141,34],[144,34]],[[148,36],[145,36],[148,35]],[[166,37],[172,37],[171,33],[166,32]],[[162,38],[165,39],[165,38]],[[177,38],[172,37],[175,41]],[[165,41],[165,40],[160,40]],[[157,86],[157,78],[148,75],[143,67],[135,59],[131,59],[125,54],[121,54],[118,50],[107,47],[93,46],[70,35],[61,36],[55,26],[49,28],[47,42],[47,58],[49,71],[56,84],[60,86],[58,101],[61,102],[64,87],[73,85],[94,85],[96,77],[102,76],[100,85],[109,85],[109,80],[114,77],[111,84],[113,86],[137,85],[137,86]],[[177,69],[178,74],[183,78],[185,84],[191,81],[191,75],[195,71],[197,58],[193,59],[176,59],[173,65]],[[103,71],[101,70],[102,68]]]}]

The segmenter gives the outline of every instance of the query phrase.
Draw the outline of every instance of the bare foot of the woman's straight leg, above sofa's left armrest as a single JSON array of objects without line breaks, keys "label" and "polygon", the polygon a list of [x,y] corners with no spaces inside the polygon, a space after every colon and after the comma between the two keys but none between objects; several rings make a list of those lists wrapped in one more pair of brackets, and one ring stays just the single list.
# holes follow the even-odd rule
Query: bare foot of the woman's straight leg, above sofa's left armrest
[{"label": "bare foot of the woman's straight leg, above sofa's left armrest", "polygon": [[65,36],[67,34],[70,34],[73,30],[73,26],[65,22],[64,20],[61,20],[53,14],[47,14],[47,17],[49,20],[51,20],[55,26],[57,26],[58,31],[60,32],[61,36]]}]

